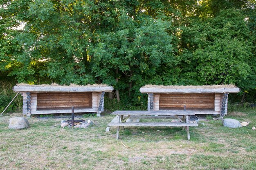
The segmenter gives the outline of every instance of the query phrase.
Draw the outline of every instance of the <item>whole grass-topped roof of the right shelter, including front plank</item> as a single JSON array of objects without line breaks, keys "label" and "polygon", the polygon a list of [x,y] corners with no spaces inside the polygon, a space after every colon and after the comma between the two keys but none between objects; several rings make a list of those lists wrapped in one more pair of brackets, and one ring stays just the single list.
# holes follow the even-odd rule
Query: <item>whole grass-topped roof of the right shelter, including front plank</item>
[{"label": "whole grass-topped roof of the right shelter, including front plank", "polygon": [[163,86],[146,85],[140,88],[141,93],[238,93],[240,88],[229,85],[205,86]]}]

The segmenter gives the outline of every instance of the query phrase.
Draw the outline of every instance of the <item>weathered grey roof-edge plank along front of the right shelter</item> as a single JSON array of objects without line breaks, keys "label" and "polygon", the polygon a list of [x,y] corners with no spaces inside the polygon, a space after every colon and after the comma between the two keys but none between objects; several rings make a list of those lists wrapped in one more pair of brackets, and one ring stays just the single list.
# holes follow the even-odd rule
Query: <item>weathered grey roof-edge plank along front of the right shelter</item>
[{"label": "weathered grey roof-edge plank along front of the right shelter", "polygon": [[141,93],[238,93],[240,88],[140,88]]}]

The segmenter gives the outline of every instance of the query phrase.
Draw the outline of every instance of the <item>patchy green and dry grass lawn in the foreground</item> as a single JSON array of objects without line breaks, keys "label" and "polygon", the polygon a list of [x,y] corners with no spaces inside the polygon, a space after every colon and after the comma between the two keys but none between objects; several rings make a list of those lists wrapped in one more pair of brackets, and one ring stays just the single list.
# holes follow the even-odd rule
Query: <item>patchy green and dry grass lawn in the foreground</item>
[{"label": "patchy green and dry grass lawn in the foreground", "polygon": [[87,129],[61,128],[61,119],[36,118],[29,119],[28,129],[8,129],[15,116],[22,115],[0,117],[0,169],[256,169],[255,109],[228,113],[228,118],[249,122],[238,129],[207,116],[200,121],[205,126],[190,128],[190,141],[182,128],[167,127],[126,127],[116,140],[116,128],[105,132],[112,115],[85,118],[95,124]]}]

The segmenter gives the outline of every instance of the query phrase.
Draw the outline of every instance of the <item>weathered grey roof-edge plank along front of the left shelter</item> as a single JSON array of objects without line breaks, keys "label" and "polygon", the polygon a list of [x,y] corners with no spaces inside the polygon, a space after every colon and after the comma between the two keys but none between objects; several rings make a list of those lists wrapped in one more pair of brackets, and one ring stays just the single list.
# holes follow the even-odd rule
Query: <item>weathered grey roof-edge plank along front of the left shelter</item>
[{"label": "weathered grey roof-edge plank along front of the left shelter", "polygon": [[111,92],[111,86],[14,86],[15,92]]}]

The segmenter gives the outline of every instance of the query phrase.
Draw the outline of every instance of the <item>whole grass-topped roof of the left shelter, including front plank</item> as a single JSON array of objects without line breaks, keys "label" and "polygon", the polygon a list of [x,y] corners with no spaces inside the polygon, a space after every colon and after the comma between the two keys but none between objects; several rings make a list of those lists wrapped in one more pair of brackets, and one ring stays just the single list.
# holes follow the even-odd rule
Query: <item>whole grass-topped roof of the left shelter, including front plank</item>
[{"label": "whole grass-topped roof of the left shelter, including front plank", "polygon": [[58,84],[42,84],[42,85],[30,85],[30,84],[17,84],[13,87],[15,92],[110,92],[113,87],[106,84],[88,84],[88,85],[58,85]]}]

